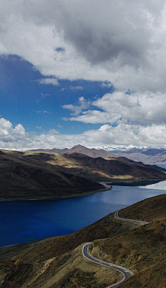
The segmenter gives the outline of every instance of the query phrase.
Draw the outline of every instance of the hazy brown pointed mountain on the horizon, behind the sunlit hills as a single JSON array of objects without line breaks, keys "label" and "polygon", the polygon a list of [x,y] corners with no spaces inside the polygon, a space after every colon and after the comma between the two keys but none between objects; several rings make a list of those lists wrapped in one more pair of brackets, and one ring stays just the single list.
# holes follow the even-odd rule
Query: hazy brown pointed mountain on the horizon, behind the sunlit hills
[{"label": "hazy brown pointed mountain on the horizon, behind the sunlit hills", "polygon": [[64,148],[64,149],[37,149],[33,151],[41,151],[41,152],[48,152],[48,153],[81,153],[92,158],[102,157],[104,159],[111,159],[111,158],[118,158],[118,155],[113,154],[111,152],[105,151],[104,149],[89,149],[82,145],[73,146],[71,149]]}]

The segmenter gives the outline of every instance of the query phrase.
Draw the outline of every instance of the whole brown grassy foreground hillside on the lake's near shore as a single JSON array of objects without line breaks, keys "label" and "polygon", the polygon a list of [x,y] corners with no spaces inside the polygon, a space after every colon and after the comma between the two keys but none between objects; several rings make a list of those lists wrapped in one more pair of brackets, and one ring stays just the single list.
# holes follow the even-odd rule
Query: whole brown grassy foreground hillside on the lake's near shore
[{"label": "whole brown grassy foreground hillside on the lake's near shore", "polygon": [[133,271],[134,275],[122,288],[165,287],[165,203],[166,195],[160,195],[120,211],[120,216],[127,213],[131,218],[136,210],[136,218],[141,220],[149,215],[149,224],[145,226],[113,219],[111,213],[71,235],[0,248],[1,287],[103,288],[111,285],[120,278],[117,273],[82,257],[82,243],[91,241],[91,253],[95,257]]}]

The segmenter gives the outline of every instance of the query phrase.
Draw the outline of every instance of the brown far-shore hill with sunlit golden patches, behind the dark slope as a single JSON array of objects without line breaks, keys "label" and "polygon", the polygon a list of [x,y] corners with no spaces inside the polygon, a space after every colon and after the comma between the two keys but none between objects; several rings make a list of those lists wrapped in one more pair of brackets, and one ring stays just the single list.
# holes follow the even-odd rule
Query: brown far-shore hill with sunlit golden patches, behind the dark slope
[{"label": "brown far-shore hill with sunlit golden patches, behind the dark slope", "polygon": [[56,171],[73,173],[77,176],[95,181],[110,179],[166,179],[162,169],[134,162],[126,158],[105,160],[104,158],[91,158],[80,153],[41,153],[41,152],[6,152],[10,157],[26,163],[49,167]]}]

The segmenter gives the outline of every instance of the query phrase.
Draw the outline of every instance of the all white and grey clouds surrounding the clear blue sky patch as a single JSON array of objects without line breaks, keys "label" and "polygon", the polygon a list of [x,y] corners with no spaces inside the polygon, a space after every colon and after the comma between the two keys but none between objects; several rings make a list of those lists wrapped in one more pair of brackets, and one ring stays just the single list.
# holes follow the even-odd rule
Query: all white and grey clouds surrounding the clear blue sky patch
[{"label": "all white and grey clouds surrounding the clear blue sky patch", "polygon": [[95,101],[81,96],[63,106],[71,111],[64,120],[100,124],[98,130],[61,135],[50,127],[35,135],[1,118],[2,149],[165,146],[165,0],[0,0],[0,7],[0,54],[32,63],[40,85],[84,79],[115,87]]}]

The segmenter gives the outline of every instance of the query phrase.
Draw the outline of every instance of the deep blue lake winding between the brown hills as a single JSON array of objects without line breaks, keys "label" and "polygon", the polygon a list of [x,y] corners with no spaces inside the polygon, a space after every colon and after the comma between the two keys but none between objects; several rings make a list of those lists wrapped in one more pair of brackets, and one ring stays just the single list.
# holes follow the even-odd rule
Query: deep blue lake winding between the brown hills
[{"label": "deep blue lake winding between the brown hills", "polygon": [[166,181],[145,187],[113,186],[107,192],[52,201],[0,201],[0,246],[66,235],[117,209],[166,193]]}]

